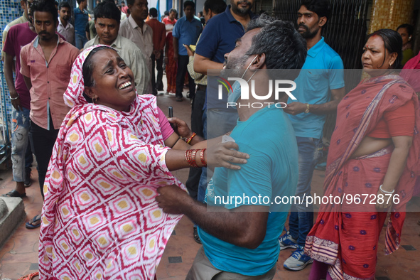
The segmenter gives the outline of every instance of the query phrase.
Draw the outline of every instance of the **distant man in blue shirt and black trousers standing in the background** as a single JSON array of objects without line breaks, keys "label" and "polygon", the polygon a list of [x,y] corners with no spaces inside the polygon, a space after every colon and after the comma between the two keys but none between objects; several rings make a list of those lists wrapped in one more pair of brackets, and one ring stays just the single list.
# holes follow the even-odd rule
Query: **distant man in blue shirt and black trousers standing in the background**
[{"label": "distant man in blue shirt and black trousers standing in the background", "polygon": [[[189,62],[187,50],[183,45],[195,45],[198,37],[203,31],[203,24],[200,19],[194,16],[195,4],[193,1],[184,2],[185,16],[178,19],[173,27],[173,60],[178,61],[176,70],[176,101],[183,101],[183,86],[187,65]],[[188,73],[188,84],[190,88],[190,99],[195,95],[194,79]]]}]

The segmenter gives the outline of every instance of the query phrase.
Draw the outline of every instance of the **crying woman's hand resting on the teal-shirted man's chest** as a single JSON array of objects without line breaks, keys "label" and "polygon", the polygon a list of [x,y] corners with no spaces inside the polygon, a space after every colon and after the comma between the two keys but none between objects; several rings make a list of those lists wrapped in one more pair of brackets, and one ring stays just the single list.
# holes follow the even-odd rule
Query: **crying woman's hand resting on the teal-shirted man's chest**
[{"label": "crying woman's hand resting on the teal-shirted man's chest", "polygon": [[207,149],[206,161],[210,168],[225,167],[234,170],[239,170],[241,167],[232,163],[244,164],[247,163],[249,154],[237,151],[239,146],[235,142],[219,142]]}]

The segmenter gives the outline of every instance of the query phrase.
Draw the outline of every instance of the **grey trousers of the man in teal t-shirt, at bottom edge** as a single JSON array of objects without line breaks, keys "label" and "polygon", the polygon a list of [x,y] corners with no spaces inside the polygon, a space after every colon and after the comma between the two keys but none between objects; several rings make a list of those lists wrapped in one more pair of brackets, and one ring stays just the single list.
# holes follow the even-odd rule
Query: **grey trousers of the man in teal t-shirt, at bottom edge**
[{"label": "grey trousers of the man in teal t-shirt, at bottom edge", "polygon": [[193,266],[188,271],[185,280],[271,280],[276,274],[276,266],[266,274],[259,276],[247,276],[216,269],[205,255],[203,246],[195,256]]}]

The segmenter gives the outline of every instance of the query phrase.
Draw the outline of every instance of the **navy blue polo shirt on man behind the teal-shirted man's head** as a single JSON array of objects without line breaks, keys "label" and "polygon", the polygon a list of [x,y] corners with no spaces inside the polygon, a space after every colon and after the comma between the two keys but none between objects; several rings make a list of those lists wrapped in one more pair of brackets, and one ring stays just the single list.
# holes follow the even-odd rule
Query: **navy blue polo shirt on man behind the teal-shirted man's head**
[{"label": "navy blue polo shirt on man behind the teal-shirted man's head", "polygon": [[[249,11],[249,17],[254,18],[256,15]],[[205,58],[210,58],[210,60],[217,63],[223,63],[225,54],[230,53],[235,48],[237,39],[244,36],[244,34],[244,26],[232,16],[229,5],[223,13],[210,18],[203,34],[201,34],[195,53]],[[207,102],[205,102],[204,106],[208,109],[225,108],[227,92],[225,93],[226,95],[223,95],[224,99],[219,100],[217,99],[217,83],[208,85]],[[215,98],[209,98],[209,94]]]}]

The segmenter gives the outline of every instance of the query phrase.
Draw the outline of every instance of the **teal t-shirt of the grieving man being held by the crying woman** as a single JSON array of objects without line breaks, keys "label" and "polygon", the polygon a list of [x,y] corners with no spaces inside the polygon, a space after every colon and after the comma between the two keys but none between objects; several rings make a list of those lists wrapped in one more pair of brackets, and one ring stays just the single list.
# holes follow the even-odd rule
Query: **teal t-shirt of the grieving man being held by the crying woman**
[{"label": "teal t-shirt of the grieving man being held by the crying woman", "polygon": [[[208,205],[232,209],[241,205],[270,207],[266,236],[257,249],[247,249],[224,242],[198,227],[206,256],[223,271],[249,276],[265,274],[279,257],[279,235],[290,205],[276,205],[275,196],[294,195],[298,181],[298,148],[291,123],[282,109],[265,107],[246,122],[237,122],[230,136],[239,151],[249,154],[239,171],[215,168],[206,191]],[[217,196],[238,196],[242,203],[220,205]],[[258,199],[261,196],[261,199]],[[262,199],[264,197],[269,198]],[[273,204],[271,204],[273,202]],[[283,211],[283,212],[276,212]]]}]

